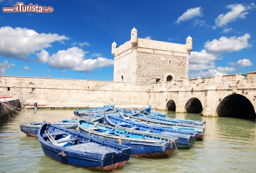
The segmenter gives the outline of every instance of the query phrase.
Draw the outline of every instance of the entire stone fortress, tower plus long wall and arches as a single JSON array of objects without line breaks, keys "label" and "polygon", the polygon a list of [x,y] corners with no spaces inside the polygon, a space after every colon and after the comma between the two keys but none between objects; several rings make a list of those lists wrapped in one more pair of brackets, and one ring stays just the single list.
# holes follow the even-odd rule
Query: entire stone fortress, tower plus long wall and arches
[{"label": "entire stone fortress, tower plus long wall and arches", "polygon": [[[185,42],[185,41],[184,41]],[[175,44],[138,38],[112,43],[114,81],[0,76],[1,96],[25,108],[121,108],[172,110],[204,116],[237,116],[255,121],[256,72],[188,79],[192,38]]]}]

